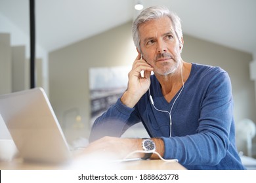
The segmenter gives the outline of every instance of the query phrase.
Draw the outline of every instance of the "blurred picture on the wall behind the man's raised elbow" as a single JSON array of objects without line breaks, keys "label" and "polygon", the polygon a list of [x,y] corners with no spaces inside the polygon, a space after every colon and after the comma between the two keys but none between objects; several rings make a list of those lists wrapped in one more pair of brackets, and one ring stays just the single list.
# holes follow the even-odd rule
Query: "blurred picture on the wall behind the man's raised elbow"
[{"label": "blurred picture on the wall behind the man's raised elbow", "polygon": [[131,66],[89,69],[91,124],[125,92]]}]

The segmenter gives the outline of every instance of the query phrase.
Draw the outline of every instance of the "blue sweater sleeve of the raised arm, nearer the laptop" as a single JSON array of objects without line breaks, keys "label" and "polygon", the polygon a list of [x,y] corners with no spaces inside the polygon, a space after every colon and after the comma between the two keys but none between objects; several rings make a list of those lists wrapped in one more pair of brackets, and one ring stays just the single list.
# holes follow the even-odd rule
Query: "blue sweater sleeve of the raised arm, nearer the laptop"
[{"label": "blue sweater sleeve of the raised arm, nearer the laptop", "polygon": [[108,108],[104,114],[96,118],[89,141],[95,141],[105,136],[121,137],[131,125],[140,122],[135,114],[135,108],[129,108],[118,99],[115,105]]}]

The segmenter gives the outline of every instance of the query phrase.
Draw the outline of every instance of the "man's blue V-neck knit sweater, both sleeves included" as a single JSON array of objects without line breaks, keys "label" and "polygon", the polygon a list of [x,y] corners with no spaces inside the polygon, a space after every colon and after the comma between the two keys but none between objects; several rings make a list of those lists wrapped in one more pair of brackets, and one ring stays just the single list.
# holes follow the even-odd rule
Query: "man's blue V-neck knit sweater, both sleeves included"
[{"label": "man's blue V-neck knit sweater, both sleeves included", "polygon": [[[156,76],[151,76],[150,92],[154,105],[171,110],[177,95],[167,103]],[[236,150],[231,83],[219,67],[192,63],[184,89],[171,111],[156,110],[146,92],[134,108],[120,99],[91,129],[90,141],[100,137],[120,137],[131,125],[142,122],[150,137],[165,144],[165,159],[178,159],[187,169],[245,169]]]}]

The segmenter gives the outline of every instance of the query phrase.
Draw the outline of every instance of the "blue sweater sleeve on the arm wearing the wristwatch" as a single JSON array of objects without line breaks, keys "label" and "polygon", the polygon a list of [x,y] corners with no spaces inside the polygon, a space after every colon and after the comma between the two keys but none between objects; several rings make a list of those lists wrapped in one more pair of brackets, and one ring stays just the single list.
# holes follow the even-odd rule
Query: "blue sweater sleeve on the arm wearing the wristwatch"
[{"label": "blue sweater sleeve on the arm wearing the wristwatch", "polygon": [[[232,93],[228,74],[215,72],[205,81],[200,101],[197,133],[184,137],[162,137],[164,158],[184,165],[217,165],[226,156],[232,124]],[[234,132],[232,132],[234,133]],[[234,135],[234,134],[231,134]]]}]

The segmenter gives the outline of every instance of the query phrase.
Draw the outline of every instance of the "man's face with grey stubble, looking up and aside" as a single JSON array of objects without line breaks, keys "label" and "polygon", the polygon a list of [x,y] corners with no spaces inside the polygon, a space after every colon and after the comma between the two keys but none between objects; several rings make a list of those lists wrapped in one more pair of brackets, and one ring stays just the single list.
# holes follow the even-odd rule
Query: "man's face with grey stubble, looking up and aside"
[{"label": "man's face with grey stubble, looking up and aside", "polygon": [[139,26],[143,59],[154,67],[154,73],[175,73],[181,62],[181,44],[168,17],[150,20]]}]

